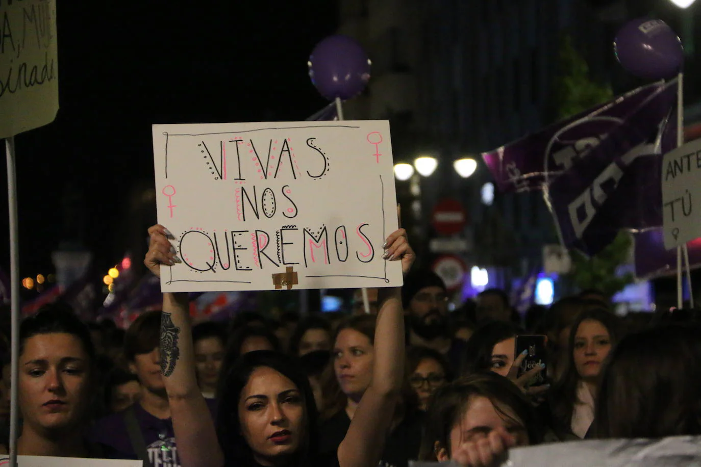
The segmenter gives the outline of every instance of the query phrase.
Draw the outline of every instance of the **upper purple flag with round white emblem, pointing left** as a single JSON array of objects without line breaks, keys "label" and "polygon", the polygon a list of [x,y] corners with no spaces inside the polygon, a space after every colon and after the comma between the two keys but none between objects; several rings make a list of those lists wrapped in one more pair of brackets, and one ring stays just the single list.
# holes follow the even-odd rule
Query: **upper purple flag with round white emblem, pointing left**
[{"label": "upper purple flag with round white emblem, pointing left", "polygon": [[482,158],[501,191],[540,190],[662,88],[663,82],[638,88],[508,146],[482,153]]}]

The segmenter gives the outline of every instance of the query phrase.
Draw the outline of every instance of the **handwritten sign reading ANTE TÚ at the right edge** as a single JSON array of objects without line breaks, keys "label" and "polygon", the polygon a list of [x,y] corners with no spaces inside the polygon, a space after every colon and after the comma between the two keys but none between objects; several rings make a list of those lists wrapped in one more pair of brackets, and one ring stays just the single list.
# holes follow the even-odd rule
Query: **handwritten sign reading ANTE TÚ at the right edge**
[{"label": "handwritten sign reading ANTE T\u00da at the right edge", "polygon": [[662,159],[662,211],[666,249],[701,237],[701,139]]}]

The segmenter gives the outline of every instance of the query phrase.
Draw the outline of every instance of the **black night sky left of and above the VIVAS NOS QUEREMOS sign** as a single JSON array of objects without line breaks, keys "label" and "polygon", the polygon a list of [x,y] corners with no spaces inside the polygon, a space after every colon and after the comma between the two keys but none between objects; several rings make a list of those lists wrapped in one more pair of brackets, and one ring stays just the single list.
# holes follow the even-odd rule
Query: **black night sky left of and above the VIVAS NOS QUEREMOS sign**
[{"label": "black night sky left of and above the VIVAS NOS QUEREMOS sign", "polygon": [[[306,62],[336,29],[335,3],[58,0],[60,110],[15,139],[22,277],[51,272],[72,231],[99,267],[121,258],[128,193],[153,184],[151,124],[304,120],[324,106]],[[5,201],[0,216],[7,245]]]}]

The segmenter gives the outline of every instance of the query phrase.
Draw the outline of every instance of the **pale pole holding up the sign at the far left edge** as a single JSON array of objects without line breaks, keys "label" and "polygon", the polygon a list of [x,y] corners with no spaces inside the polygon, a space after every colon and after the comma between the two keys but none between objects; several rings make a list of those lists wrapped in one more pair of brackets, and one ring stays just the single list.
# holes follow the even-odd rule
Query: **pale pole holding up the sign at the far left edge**
[{"label": "pale pole holding up the sign at the far left edge", "polygon": [[20,357],[20,265],[18,248],[17,172],[15,138],[5,139],[7,160],[7,194],[10,221],[10,296],[11,296],[11,395],[10,395],[10,466],[17,467],[17,435],[19,421],[18,370]]}]

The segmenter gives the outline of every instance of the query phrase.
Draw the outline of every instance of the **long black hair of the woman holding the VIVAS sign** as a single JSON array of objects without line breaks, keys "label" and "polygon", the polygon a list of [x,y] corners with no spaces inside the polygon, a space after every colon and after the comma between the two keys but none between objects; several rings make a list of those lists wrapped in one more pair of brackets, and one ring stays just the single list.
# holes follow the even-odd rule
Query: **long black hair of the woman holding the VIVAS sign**
[{"label": "long black hair of the woman holding the VIVAS sign", "polygon": [[290,379],[299,389],[301,398],[304,400],[306,433],[300,443],[297,459],[291,461],[290,465],[311,467],[318,454],[318,414],[309,380],[294,358],[268,350],[253,351],[242,355],[231,367],[222,372],[220,388],[221,393],[226,394],[226,396],[219,398],[217,436],[219,445],[224,449],[226,465],[254,465],[253,452],[241,433],[238,404],[243,388],[254,370],[263,367],[272,368],[279,372]]}]

